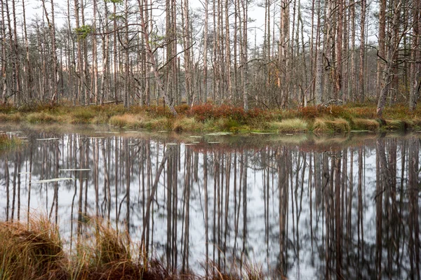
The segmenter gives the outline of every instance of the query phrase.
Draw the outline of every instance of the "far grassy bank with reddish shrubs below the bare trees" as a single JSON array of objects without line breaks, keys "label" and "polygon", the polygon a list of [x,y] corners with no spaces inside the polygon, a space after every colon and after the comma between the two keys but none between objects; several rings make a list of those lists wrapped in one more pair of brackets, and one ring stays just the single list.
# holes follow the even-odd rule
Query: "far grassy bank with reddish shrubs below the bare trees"
[{"label": "far grassy bank with reddish shrubs below the bare trees", "polygon": [[283,111],[243,109],[202,104],[176,106],[177,117],[163,106],[0,106],[0,121],[27,123],[108,124],[126,129],[173,130],[177,132],[350,132],[421,130],[421,110],[409,112],[404,104],[376,118],[374,104],[309,106]]}]

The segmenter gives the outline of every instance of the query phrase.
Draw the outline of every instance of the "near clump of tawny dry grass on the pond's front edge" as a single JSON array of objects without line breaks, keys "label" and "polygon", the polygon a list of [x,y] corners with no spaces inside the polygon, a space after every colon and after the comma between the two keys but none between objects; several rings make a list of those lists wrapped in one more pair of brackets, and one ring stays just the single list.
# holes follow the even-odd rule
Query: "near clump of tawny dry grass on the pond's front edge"
[{"label": "near clump of tawny dry grass on the pond's front edge", "polygon": [[[29,224],[0,222],[0,279],[206,279],[192,272],[169,271],[105,221],[91,219],[88,230],[88,235],[74,238],[70,251],[63,246],[57,226],[47,219]],[[263,278],[260,267],[243,264],[227,274],[209,266],[208,279]]]}]

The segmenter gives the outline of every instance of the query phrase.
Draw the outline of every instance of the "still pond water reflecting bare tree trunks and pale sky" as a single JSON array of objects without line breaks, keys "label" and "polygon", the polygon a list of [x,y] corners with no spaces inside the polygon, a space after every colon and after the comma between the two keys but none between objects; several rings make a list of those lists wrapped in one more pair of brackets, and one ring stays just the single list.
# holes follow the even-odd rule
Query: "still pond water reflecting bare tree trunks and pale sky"
[{"label": "still pond water reflecting bare tree trunks and pale sky", "polygon": [[48,216],[67,246],[100,216],[169,269],[420,279],[420,134],[0,130],[24,140],[0,153],[0,218]]}]

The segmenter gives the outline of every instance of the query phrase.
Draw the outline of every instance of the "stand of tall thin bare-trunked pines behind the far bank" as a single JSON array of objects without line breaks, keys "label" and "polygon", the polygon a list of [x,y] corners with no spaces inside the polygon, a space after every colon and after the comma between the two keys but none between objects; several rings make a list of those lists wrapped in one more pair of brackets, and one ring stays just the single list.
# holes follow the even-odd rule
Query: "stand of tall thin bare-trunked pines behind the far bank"
[{"label": "stand of tall thin bare-trunked pines behind the far bank", "polygon": [[420,0],[0,1],[4,104],[417,105]]}]

